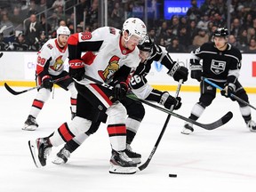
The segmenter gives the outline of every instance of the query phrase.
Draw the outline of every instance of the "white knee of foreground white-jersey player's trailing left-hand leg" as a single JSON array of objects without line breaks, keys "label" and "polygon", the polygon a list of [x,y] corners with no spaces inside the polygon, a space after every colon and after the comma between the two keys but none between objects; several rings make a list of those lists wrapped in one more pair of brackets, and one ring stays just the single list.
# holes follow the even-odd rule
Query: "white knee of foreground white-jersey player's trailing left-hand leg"
[{"label": "white knee of foreground white-jersey player's trailing left-hand leg", "polygon": [[90,129],[91,124],[92,121],[80,116],[75,116],[75,118],[68,123],[68,128],[74,135],[79,135],[83,132],[87,132]]}]

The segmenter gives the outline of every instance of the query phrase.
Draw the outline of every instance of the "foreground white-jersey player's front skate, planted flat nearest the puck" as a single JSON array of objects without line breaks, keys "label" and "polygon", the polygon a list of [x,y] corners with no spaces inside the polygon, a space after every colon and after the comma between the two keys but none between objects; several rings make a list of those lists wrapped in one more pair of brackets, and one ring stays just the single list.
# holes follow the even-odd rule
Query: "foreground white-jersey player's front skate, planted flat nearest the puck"
[{"label": "foreground white-jersey player's front skate, planted flat nearest the puck", "polygon": [[110,158],[110,173],[115,174],[133,174],[136,172],[137,164],[129,158],[124,151],[116,151],[112,149],[112,156]]}]

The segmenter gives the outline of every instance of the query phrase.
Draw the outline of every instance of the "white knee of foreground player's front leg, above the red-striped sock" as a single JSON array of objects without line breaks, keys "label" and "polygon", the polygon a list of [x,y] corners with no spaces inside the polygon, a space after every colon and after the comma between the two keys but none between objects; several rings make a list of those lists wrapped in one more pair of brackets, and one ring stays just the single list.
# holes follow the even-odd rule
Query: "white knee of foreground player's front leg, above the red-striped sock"
[{"label": "white knee of foreground player's front leg, above the red-striped sock", "polygon": [[125,124],[127,112],[122,103],[114,103],[110,108],[108,108],[106,114],[108,115],[108,124]]}]

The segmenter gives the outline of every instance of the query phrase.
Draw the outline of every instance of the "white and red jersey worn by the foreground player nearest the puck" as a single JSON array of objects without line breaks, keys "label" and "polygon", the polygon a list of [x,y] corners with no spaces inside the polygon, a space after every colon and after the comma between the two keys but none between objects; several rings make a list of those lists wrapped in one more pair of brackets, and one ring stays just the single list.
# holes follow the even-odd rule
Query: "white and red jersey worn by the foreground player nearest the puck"
[{"label": "white and red jersey worn by the foreground player nearest the puck", "polygon": [[[137,46],[130,51],[121,45],[121,31],[116,28],[97,28],[92,33],[82,32],[70,36],[68,44],[79,44],[85,51],[85,74],[108,82],[122,66],[135,69],[140,63]],[[132,70],[133,71],[133,70]],[[90,81],[84,79],[82,84]]]}]

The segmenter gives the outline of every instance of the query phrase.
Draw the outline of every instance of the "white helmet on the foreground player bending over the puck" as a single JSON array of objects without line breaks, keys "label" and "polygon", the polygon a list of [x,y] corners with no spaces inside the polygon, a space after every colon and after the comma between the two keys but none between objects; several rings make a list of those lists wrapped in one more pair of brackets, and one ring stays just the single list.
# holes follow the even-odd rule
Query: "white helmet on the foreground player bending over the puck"
[{"label": "white helmet on the foreground player bending over the puck", "polygon": [[146,25],[139,18],[129,18],[125,20],[123,24],[123,33],[124,31],[128,31],[129,37],[134,35],[139,36],[141,39],[144,39],[147,34]]}]

